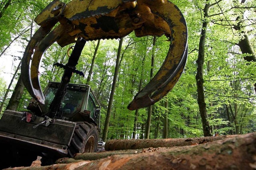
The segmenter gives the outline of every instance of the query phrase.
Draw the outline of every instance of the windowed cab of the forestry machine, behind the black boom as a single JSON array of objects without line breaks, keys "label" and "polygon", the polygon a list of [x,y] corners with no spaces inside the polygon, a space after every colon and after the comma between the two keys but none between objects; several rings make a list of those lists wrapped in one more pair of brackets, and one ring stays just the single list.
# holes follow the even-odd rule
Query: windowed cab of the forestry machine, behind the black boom
[{"label": "windowed cab of the forestry machine, behind the black boom", "polygon": [[[59,82],[49,82],[44,90],[45,104],[41,106],[42,114],[49,111],[50,104],[54,99],[59,85]],[[33,102],[30,102],[30,106],[32,103]],[[28,107],[28,109],[30,109],[30,107]],[[59,115],[61,115],[59,116],[61,119],[69,121],[84,121],[84,119],[88,121],[88,119],[92,119],[99,125],[100,103],[90,86],[86,84],[68,84],[66,94],[62,99],[58,112]]]}]

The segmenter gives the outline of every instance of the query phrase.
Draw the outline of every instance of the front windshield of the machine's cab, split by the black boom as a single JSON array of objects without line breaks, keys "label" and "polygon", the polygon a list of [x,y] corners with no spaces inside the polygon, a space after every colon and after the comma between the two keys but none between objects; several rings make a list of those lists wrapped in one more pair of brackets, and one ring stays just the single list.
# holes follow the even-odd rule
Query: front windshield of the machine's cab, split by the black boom
[{"label": "front windshield of the machine's cab, split by the black boom", "polygon": [[[50,109],[50,104],[54,99],[57,89],[57,87],[50,87],[45,93],[45,106],[47,111]],[[73,114],[75,112],[81,111],[85,95],[86,91],[67,89],[66,95],[62,100],[63,113]]]}]

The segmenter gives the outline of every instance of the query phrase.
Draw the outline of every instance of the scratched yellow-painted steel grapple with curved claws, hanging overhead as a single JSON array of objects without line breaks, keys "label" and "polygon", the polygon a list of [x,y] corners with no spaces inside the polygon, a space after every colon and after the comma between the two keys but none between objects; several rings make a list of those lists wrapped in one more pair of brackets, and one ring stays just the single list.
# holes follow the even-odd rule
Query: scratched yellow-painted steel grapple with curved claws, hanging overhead
[{"label": "scratched yellow-painted steel grapple with curved claws, hanging overhead", "polygon": [[[137,37],[166,35],[170,40],[170,49],[160,70],[135,96],[129,109],[146,107],[160,100],[176,84],[186,64],[186,21],[180,10],[168,0],[72,0],[68,4],[54,0],[35,21],[43,27],[41,29],[44,30],[45,27],[47,31],[57,21],[60,24],[47,36],[45,33],[37,33],[38,36],[46,36],[37,45],[29,43],[28,49],[36,51],[32,59],[31,74],[24,75],[30,78],[24,79],[31,82],[26,86],[32,97],[36,96],[35,92],[40,93],[38,67],[44,51],[55,41],[61,47],[74,43],[77,36],[87,41],[116,39],[134,31]],[[31,55],[27,54],[24,54],[24,61],[29,66]],[[25,69],[25,66],[22,68]]]}]

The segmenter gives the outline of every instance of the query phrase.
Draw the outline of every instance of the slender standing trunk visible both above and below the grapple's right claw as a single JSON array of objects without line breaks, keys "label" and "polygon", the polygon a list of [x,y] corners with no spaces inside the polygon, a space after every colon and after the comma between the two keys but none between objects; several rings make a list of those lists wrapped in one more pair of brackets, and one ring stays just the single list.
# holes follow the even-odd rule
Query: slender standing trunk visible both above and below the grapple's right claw
[{"label": "slender standing trunk visible both above and below the grapple's right claw", "polygon": [[[154,36],[154,38],[153,38],[151,69],[150,69],[150,80],[153,78],[154,57],[155,57],[155,50],[154,49],[155,49],[155,46],[156,46],[156,36]],[[148,107],[148,119],[147,119],[147,125],[146,125],[146,137],[145,137],[145,139],[149,139],[151,115],[152,115],[152,105]]]}]

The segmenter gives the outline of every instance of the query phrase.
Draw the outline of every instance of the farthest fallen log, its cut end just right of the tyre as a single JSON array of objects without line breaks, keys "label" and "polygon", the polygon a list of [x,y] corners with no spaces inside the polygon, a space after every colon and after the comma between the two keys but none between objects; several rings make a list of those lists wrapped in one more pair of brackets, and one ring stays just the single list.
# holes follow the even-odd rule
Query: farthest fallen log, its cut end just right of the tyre
[{"label": "farthest fallen log, its cut end just right of the tyre", "polygon": [[216,141],[234,137],[235,135],[223,135],[216,137],[178,138],[178,139],[125,139],[110,140],[105,144],[105,150],[127,150],[157,147],[184,147],[198,145],[210,141]]}]

